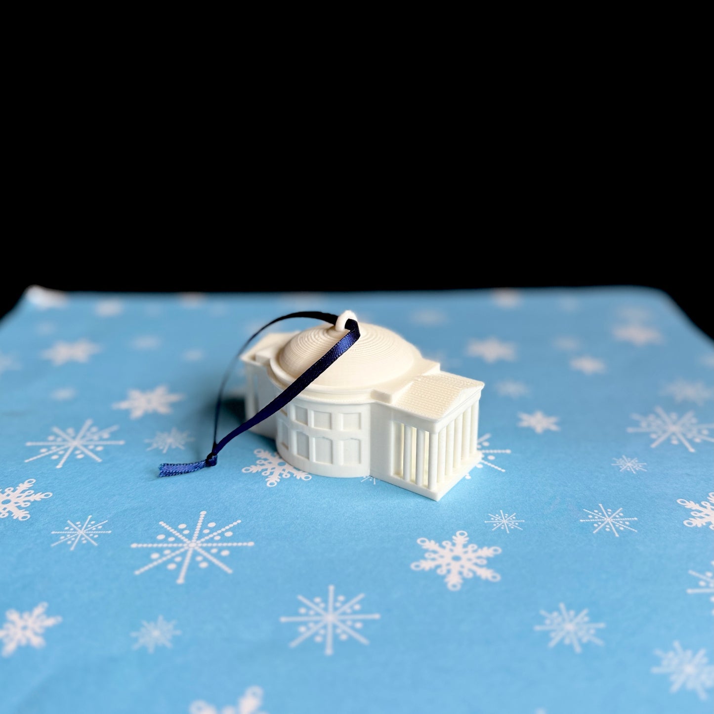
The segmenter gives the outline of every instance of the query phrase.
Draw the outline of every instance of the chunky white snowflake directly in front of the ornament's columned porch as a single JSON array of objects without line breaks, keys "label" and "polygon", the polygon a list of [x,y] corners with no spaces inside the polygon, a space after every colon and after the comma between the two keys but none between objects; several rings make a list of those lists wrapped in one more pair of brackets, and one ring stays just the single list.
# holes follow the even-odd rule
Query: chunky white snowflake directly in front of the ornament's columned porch
[{"label": "chunky white snowflake directly in front of the ornament's columned porch", "polygon": [[411,564],[412,570],[434,570],[438,575],[445,575],[444,582],[449,590],[461,590],[461,583],[464,578],[473,578],[478,575],[483,580],[490,580],[496,583],[501,580],[490,568],[484,568],[488,562],[486,558],[493,558],[493,555],[501,553],[501,548],[494,545],[486,548],[478,548],[475,543],[468,543],[468,533],[466,531],[456,531],[456,535],[451,536],[451,540],[443,540],[439,545],[436,540],[418,538],[416,541],[427,551],[423,560],[417,560]]}]

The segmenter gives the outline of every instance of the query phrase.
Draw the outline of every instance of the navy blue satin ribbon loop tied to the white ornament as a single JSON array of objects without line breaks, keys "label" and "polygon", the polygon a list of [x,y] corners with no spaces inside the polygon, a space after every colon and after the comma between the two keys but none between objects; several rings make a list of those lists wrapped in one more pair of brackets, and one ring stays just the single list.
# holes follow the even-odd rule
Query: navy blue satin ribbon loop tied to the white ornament
[{"label": "navy blue satin ribbon loop tied to the white ornament", "polygon": [[245,351],[248,344],[250,344],[251,341],[265,328],[270,327],[281,320],[288,320],[296,317],[313,318],[323,322],[332,323],[333,325],[335,325],[338,320],[338,316],[333,315],[332,313],[297,312],[275,318],[274,320],[271,320],[263,325],[258,331],[254,332],[246,340],[240,350],[238,350],[236,356],[231,360],[231,363],[226,368],[226,373],[223,375],[221,388],[218,389],[216,412],[213,416],[213,448],[211,449],[211,453],[209,453],[203,461],[193,461],[192,463],[162,463],[161,466],[159,466],[159,476],[176,476],[179,473],[192,473],[193,471],[200,471],[201,468],[206,468],[206,466],[216,466],[216,462],[218,461],[218,452],[221,451],[221,449],[226,446],[231,439],[236,438],[236,436],[238,436],[238,434],[242,434],[243,431],[248,431],[248,429],[263,421],[263,419],[267,419],[268,416],[271,416],[276,413],[276,411],[283,408],[283,406],[285,406],[289,401],[298,396],[298,394],[301,393],[301,391],[303,391],[308,384],[315,381],[337,358],[346,353],[346,351],[348,351],[348,349],[351,348],[351,346],[353,346],[353,344],[356,343],[360,337],[357,321],[348,318],[345,322],[345,327],[348,329],[348,333],[343,336],[340,341],[338,341],[328,352],[323,354],[323,356],[321,356],[316,363],[308,367],[306,371],[304,371],[290,386],[286,387],[280,394],[278,394],[278,396],[276,396],[271,403],[264,406],[260,411],[258,411],[258,413],[248,419],[248,421],[243,422],[241,426],[233,429],[231,433],[228,433],[221,439],[221,441],[216,443],[216,437],[218,435],[218,414],[221,411],[223,390],[226,388],[226,382],[231,376],[234,364],[243,351]]}]

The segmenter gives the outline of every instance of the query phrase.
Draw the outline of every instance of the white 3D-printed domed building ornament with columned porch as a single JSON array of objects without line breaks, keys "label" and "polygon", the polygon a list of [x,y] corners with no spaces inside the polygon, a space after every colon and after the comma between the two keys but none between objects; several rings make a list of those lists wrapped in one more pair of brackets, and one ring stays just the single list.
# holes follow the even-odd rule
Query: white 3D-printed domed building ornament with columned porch
[{"label": "white 3D-printed domed building ornament with columned porch", "polygon": [[[321,358],[347,330],[336,325],[269,333],[241,357],[246,418]],[[361,337],[283,409],[251,431],[275,439],[281,457],[318,476],[374,476],[438,501],[481,461],[483,382],[438,362],[383,327]]]}]

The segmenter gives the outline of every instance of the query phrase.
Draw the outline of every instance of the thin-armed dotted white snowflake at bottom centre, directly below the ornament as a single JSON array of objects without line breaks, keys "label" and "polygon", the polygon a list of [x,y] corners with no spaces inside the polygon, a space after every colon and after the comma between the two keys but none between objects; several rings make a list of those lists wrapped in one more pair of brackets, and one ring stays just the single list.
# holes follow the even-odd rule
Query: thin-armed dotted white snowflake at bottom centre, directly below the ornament
[{"label": "thin-armed dotted white snowflake at bottom centre, directly below the ornament", "polygon": [[360,600],[364,593],[345,602],[344,595],[335,597],[335,586],[328,585],[327,602],[322,598],[308,600],[303,595],[298,595],[298,600],[304,605],[298,609],[299,615],[280,618],[281,623],[304,623],[298,627],[300,635],[291,643],[291,647],[297,647],[308,638],[313,638],[317,643],[325,643],[325,654],[333,653],[334,636],[340,640],[353,638],[363,645],[368,645],[366,640],[357,630],[361,630],[363,620],[378,620],[379,615],[363,615],[358,612],[362,605]]}]

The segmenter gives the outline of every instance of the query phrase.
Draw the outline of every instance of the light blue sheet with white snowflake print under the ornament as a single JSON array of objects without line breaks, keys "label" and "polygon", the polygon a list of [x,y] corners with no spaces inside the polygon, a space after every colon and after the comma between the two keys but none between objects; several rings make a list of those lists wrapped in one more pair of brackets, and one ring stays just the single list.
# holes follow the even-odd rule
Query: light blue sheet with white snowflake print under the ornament
[{"label": "light blue sheet with white snowflake print under the ornament", "polygon": [[[251,333],[346,309],[486,383],[481,468],[436,502],[248,432],[158,478],[210,451]],[[713,366],[643,288],[32,288],[0,323],[0,711],[709,713]]]}]

